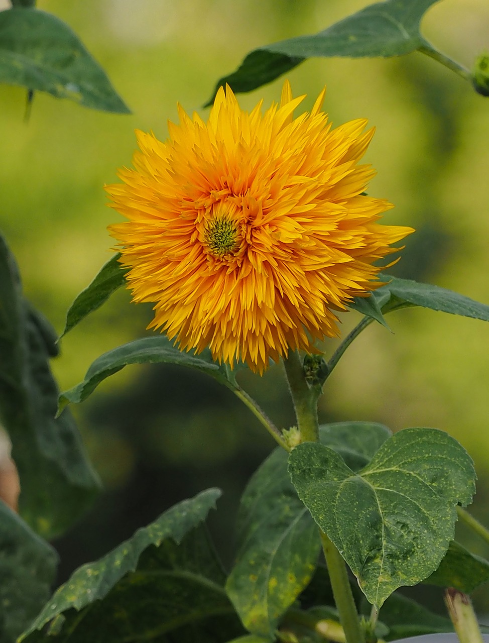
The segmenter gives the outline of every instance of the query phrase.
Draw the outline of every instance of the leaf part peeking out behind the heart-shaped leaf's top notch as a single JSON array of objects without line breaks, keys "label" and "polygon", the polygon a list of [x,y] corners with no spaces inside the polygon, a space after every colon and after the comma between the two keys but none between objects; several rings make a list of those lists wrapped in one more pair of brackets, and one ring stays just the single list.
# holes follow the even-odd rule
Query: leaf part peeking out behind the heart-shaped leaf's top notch
[{"label": "leaf part peeking out behind the heart-shaped leaf's top notch", "polygon": [[353,471],[366,466],[391,435],[387,426],[377,422],[333,422],[319,427],[321,444],[341,455]]}]

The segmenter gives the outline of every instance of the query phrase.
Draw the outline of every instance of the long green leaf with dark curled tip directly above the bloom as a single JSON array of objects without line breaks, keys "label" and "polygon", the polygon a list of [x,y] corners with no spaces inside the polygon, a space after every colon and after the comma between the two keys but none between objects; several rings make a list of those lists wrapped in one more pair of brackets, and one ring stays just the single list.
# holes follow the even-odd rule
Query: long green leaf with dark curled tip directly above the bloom
[{"label": "long green leaf with dark curled tip directly above the bloom", "polygon": [[[438,0],[387,0],[369,5],[314,35],[274,42],[251,51],[236,71],[221,78],[235,92],[252,91],[275,80],[310,57],[389,57],[422,47],[432,50],[420,34],[423,14]],[[213,98],[208,105],[212,104]]]}]

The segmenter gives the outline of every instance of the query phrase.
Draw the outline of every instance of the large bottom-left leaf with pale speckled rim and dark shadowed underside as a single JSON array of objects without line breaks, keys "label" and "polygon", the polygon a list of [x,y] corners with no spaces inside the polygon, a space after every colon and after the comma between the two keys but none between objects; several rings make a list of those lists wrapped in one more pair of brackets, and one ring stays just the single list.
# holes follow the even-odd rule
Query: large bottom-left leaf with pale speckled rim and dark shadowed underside
[{"label": "large bottom-left leaf with pale speckled rim and dark shadowed underside", "polygon": [[243,634],[200,525],[219,496],[208,489],[178,503],[78,568],[19,641],[220,643]]}]

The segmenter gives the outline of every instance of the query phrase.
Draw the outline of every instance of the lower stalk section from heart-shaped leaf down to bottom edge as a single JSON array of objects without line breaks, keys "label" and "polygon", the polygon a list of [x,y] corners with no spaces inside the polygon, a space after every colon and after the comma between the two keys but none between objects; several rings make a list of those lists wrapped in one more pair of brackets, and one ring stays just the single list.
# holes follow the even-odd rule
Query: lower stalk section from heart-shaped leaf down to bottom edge
[{"label": "lower stalk section from heart-shaped leaf down to bottom edge", "polygon": [[346,565],[339,551],[332,541],[321,531],[321,543],[325,552],[326,565],[330,574],[333,596],[339,618],[344,629],[347,643],[363,643],[364,636],[360,628],[359,616],[353,593],[351,593],[350,581],[346,572]]}]

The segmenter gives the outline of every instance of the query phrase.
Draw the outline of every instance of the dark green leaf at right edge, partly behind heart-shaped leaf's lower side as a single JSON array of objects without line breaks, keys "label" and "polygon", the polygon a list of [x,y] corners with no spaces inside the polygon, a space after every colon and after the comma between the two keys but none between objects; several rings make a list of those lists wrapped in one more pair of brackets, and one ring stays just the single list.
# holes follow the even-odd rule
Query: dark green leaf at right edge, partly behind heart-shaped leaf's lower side
[{"label": "dark green leaf at right edge, partly behind heart-shaped leaf's lower side", "polygon": [[424,582],[441,587],[454,587],[470,594],[479,585],[489,581],[489,561],[471,554],[456,541],[450,543],[440,567]]}]

